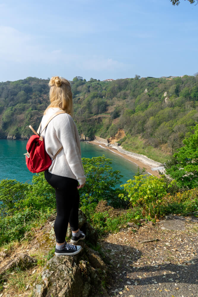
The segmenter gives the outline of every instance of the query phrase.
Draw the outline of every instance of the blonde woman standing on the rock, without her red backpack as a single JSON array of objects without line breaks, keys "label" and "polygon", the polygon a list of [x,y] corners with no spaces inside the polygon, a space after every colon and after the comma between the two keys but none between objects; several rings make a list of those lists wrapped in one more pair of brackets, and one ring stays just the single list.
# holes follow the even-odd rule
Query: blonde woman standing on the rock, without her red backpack
[{"label": "blonde woman standing on the rock, without her red backpack", "polygon": [[[52,165],[45,171],[45,178],[55,188],[56,193],[55,255],[75,255],[80,252],[82,247],[74,244],[85,238],[85,234],[78,228],[80,199],[78,189],[85,184],[80,139],[76,124],[72,119],[73,102],[69,81],[56,76],[50,79],[49,86],[51,103],[42,118],[41,131],[54,113],[65,111],[65,113],[55,116],[42,132],[45,139],[45,149],[51,159],[63,146],[63,149],[53,160]],[[65,242],[68,222],[72,230],[71,242],[73,244]]]}]

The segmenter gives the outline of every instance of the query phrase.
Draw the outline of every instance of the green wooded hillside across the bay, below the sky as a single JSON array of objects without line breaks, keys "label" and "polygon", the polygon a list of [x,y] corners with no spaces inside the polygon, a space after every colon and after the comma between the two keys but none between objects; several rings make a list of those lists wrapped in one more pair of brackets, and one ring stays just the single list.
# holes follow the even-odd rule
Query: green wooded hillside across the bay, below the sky
[{"label": "green wooded hillside across the bay, below the sky", "polygon": [[[49,104],[48,82],[28,77],[0,83],[0,137],[28,138]],[[160,159],[180,148],[198,120],[198,76],[71,82],[79,133],[93,139],[115,136],[122,146]],[[150,156],[151,157],[151,156]]]}]

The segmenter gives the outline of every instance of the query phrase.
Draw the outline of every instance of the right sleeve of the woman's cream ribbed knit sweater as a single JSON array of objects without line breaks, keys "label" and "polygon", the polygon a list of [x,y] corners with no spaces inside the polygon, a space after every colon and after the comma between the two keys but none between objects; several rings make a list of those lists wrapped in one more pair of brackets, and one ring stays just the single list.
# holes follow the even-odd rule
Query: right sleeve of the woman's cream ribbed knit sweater
[{"label": "right sleeve of the woman's cream ribbed knit sweater", "polygon": [[54,118],[54,129],[61,142],[66,160],[79,184],[85,183],[85,173],[81,160],[80,140],[76,124],[69,114],[60,114]]}]

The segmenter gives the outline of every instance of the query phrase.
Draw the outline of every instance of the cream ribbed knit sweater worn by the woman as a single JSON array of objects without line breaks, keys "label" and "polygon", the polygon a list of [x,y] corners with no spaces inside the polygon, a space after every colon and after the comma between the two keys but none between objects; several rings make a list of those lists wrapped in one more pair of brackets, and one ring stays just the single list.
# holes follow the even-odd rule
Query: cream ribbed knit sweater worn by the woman
[{"label": "cream ribbed knit sweater worn by the woman", "polygon": [[[45,127],[47,120],[59,108],[49,108],[42,118],[42,127]],[[81,160],[80,139],[75,122],[68,113],[61,113],[55,116],[42,132],[45,141],[45,150],[53,159],[57,151],[63,146],[58,153],[49,172],[59,176],[65,176],[77,179],[79,184],[85,183],[85,173]]]}]

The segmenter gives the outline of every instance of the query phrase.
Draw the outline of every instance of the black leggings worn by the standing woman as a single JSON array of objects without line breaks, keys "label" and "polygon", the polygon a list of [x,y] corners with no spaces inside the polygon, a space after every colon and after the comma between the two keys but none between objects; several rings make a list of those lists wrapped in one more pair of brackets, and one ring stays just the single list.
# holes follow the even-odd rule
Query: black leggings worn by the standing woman
[{"label": "black leggings worn by the standing woman", "polygon": [[80,196],[78,181],[74,178],[63,177],[45,171],[46,181],[55,188],[57,216],[54,223],[56,241],[65,241],[68,222],[72,231],[78,230],[78,208]]}]

